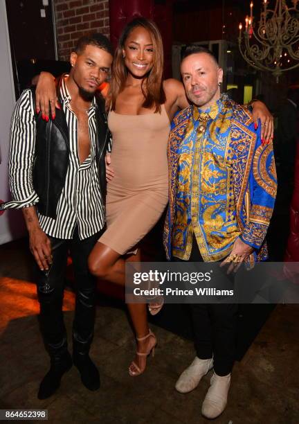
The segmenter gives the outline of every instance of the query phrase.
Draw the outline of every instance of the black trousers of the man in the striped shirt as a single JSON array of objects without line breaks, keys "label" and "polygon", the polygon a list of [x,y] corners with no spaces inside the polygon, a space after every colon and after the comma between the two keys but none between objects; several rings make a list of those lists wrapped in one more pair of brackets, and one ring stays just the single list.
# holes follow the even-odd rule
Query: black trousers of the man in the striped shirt
[{"label": "black trousers of the man in the striped shirt", "polygon": [[96,312],[96,280],[89,273],[88,257],[99,236],[100,233],[96,233],[80,240],[76,227],[71,240],[49,237],[53,255],[50,271],[46,275],[36,267],[39,321],[44,343],[51,357],[62,355],[67,349],[62,302],[69,251],[73,260],[76,293],[73,346],[82,353],[89,351]]}]

